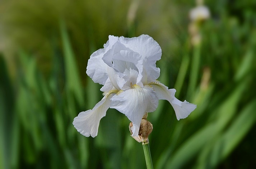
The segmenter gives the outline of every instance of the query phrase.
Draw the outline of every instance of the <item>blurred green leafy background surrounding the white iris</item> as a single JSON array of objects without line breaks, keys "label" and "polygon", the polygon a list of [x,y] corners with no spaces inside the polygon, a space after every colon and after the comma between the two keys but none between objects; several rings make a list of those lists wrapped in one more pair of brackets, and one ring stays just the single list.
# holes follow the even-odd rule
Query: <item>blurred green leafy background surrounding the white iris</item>
[{"label": "blurred green leafy background surrounding the white iris", "polygon": [[0,2],[0,168],[145,168],[129,120],[109,109],[98,136],[72,125],[102,98],[85,71],[108,35],[149,34],[162,47],[159,80],[197,104],[177,121],[167,101],[149,114],[155,168],[252,168],[256,129],[256,3],[206,1],[200,45],[194,1]]}]

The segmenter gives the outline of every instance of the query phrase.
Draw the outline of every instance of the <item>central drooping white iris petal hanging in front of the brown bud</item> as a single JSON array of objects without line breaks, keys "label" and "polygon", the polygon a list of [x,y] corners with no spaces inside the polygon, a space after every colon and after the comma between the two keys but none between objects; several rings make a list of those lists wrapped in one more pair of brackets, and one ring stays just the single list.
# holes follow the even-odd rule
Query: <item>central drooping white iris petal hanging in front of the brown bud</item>
[{"label": "central drooping white iris petal hanging in front of the brown bud", "polygon": [[157,106],[158,98],[153,88],[149,85],[141,88],[135,84],[131,89],[113,96],[110,108],[125,114],[134,126],[132,136],[138,136],[143,115],[155,111]]}]

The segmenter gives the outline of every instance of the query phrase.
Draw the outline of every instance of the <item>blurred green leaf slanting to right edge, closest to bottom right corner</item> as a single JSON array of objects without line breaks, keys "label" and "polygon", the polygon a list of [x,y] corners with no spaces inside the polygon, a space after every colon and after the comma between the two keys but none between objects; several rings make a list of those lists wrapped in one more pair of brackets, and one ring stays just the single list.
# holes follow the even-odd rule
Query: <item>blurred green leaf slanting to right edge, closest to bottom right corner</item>
[{"label": "blurred green leaf slanting to right edge, closest to bottom right corner", "polygon": [[226,158],[255,124],[255,110],[256,100],[253,100],[243,108],[230,127],[214,141],[214,144],[208,145],[208,151],[201,155],[197,168],[215,168]]}]

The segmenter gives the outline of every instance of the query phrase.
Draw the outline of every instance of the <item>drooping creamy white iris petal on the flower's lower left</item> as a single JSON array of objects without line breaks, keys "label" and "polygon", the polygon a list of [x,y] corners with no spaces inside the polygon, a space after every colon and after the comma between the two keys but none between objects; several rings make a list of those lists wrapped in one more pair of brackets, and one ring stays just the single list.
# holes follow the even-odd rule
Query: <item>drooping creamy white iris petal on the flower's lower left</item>
[{"label": "drooping creamy white iris petal on the flower's lower left", "polygon": [[82,135],[95,137],[98,134],[99,121],[106,116],[106,111],[110,107],[110,99],[113,94],[104,96],[92,110],[80,112],[73,121],[76,130]]}]

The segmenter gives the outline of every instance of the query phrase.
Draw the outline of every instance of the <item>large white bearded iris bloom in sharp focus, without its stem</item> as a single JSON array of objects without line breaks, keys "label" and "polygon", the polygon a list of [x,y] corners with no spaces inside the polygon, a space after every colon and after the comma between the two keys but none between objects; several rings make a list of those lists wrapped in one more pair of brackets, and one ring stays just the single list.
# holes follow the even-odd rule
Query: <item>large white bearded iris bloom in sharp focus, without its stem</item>
[{"label": "large white bearded iris bloom in sharp focus, without its stem", "polygon": [[175,89],[168,89],[156,79],[161,58],[159,44],[149,35],[134,38],[110,35],[103,49],[94,52],[88,61],[86,73],[95,83],[104,85],[104,97],[92,110],[80,112],[73,125],[84,136],[98,134],[99,121],[108,108],[125,114],[133,124],[132,136],[138,136],[145,112],[153,112],[158,100],[168,100],[178,120],[186,118],[196,105],[181,102],[174,97]]}]

